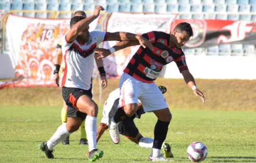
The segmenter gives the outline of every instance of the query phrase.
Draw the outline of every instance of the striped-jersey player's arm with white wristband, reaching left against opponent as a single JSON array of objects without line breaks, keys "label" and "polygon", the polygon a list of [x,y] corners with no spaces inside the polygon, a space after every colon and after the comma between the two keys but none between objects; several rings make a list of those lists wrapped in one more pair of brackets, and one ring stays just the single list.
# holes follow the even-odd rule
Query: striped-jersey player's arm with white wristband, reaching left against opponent
[{"label": "striped-jersey player's arm with white wristband, reaching left against opponent", "polygon": [[95,54],[97,56],[97,59],[105,58],[109,56],[111,53],[118,51],[120,49],[125,49],[130,46],[134,45],[140,45],[139,41],[121,41],[111,47],[110,49],[104,49],[104,48],[95,48],[94,52],[97,53]]}]

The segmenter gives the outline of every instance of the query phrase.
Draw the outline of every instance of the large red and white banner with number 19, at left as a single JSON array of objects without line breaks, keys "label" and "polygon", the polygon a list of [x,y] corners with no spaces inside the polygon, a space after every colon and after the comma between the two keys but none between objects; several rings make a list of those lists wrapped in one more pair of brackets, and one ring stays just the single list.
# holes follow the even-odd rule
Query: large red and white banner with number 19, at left
[{"label": "large red and white banner with number 19, at left", "polygon": [[[91,23],[91,31],[96,29],[97,22],[98,19]],[[9,15],[6,35],[16,78],[9,83],[12,86],[55,86],[53,68],[56,45],[68,30],[70,19]]]}]

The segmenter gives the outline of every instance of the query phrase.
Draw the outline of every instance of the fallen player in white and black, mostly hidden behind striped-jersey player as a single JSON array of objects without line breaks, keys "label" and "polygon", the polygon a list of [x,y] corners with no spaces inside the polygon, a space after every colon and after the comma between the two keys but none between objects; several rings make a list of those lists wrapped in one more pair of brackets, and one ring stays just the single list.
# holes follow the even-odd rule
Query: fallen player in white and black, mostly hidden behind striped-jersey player
[{"label": "fallen player in white and black, mostly hidden behind striped-jersey player", "polygon": [[[161,92],[164,94],[166,92],[165,86],[158,86],[158,88],[161,90]],[[103,135],[105,130],[107,130],[109,127],[109,120],[112,118],[117,111],[117,106],[119,104],[119,98],[120,98],[120,90],[119,88],[112,91],[108,97],[108,99],[105,101],[104,107],[103,107],[103,117],[101,119],[101,122],[99,124],[98,130],[97,130],[97,142],[99,141],[100,137]],[[130,141],[136,143],[140,147],[146,147],[146,148],[152,148],[153,147],[153,141],[154,139],[143,137],[142,134],[137,129],[133,119],[140,118],[142,114],[145,113],[142,103],[139,101],[138,104],[138,111],[134,114],[132,117],[125,118],[123,121],[118,123],[118,130],[119,133],[127,137]],[[118,144],[120,139],[112,140],[115,144]],[[171,147],[168,143],[164,143],[162,147],[162,155],[166,158],[172,158],[173,154],[171,152]]]}]

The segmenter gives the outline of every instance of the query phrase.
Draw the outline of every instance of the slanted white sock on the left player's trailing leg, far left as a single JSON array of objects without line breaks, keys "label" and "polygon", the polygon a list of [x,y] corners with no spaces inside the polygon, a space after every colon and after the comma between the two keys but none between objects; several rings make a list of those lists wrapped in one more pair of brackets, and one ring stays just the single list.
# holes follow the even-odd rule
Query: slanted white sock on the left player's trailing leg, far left
[{"label": "slanted white sock on the left player's trailing leg, far left", "polygon": [[56,132],[53,134],[53,136],[48,140],[47,147],[49,150],[53,150],[53,148],[61,142],[63,139],[68,137],[71,134],[71,132],[68,132],[66,129],[66,123],[59,126],[59,128],[56,130]]}]

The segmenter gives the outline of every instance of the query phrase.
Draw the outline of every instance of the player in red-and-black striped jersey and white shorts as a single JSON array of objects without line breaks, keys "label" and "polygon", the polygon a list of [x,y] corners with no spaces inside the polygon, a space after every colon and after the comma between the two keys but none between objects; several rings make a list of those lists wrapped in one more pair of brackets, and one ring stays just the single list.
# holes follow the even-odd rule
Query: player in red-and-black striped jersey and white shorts
[{"label": "player in red-and-black striped jersey and white shorts", "polygon": [[[189,23],[179,23],[172,33],[152,31],[143,34],[153,45],[153,50],[140,47],[130,59],[120,79],[119,109],[110,124],[110,137],[119,139],[117,123],[125,117],[130,117],[138,110],[138,99],[141,100],[145,112],[153,112],[158,120],[154,129],[154,143],[149,161],[168,161],[161,156],[161,146],[165,141],[172,114],[164,96],[157,88],[154,80],[159,76],[164,65],[174,61],[187,85],[196,96],[204,102],[203,93],[196,86],[194,77],[188,70],[182,46],[193,36]],[[137,41],[123,41],[110,49],[95,49],[104,58],[112,52],[138,45]]]}]

